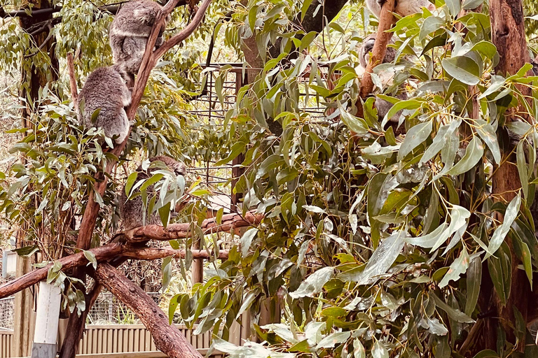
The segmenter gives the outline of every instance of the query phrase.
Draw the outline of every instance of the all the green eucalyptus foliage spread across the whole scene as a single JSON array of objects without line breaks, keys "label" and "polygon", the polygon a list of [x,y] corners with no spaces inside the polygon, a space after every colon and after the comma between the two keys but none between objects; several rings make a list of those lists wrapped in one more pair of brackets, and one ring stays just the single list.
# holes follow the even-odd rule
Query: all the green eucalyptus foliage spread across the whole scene
[{"label": "all the green eucalyptus foliage spread across the whole scene", "polygon": [[[335,1],[336,12],[318,0],[214,1],[193,36],[151,72],[113,173],[104,173],[116,158],[99,145],[102,133],[76,120],[63,61],[76,54],[78,87],[110,64],[113,15],[88,1],[55,3],[61,22],[50,29],[51,51],[59,69],[52,52],[36,49],[32,35],[4,17],[4,74],[15,78],[33,65],[59,76],[48,78],[37,100],[20,98],[4,112],[13,120],[9,132],[20,137],[0,173],[3,219],[25,227],[21,253],[60,259],[74,248],[90,195],[100,206],[92,248],[118,231],[118,190],[126,182],[164,225],[192,223],[191,236],[170,241],[187,249],[186,275],[198,238],[218,256],[219,234],[206,235],[201,225],[207,197],[222,187],[186,185],[165,169],[132,187],[135,177],[120,168],[163,154],[216,166],[240,159],[242,174],[228,194],[242,197],[239,213],[263,220],[237,238],[228,259],[214,260],[205,282],[172,297],[171,321],[180,316],[198,324],[196,333],[213,331],[214,348],[230,357],[536,357],[527,329],[537,318],[538,78],[528,63],[536,5],[524,4],[527,64],[506,73],[499,54],[511,49],[497,48],[490,2],[438,0],[434,13],[398,18],[394,62],[375,67],[375,96],[363,101],[359,48],[378,25],[363,1]],[[334,18],[318,26],[318,14]],[[176,8],[165,37],[190,18],[186,6]],[[223,105],[223,83],[237,70],[199,65],[212,36],[213,62],[240,62],[245,76],[223,118],[200,120],[189,110],[207,73]],[[16,99],[29,85],[7,92]],[[376,99],[394,104],[385,117]],[[21,106],[31,113],[27,122],[19,122]],[[92,189],[99,175],[109,177],[103,195]],[[148,195],[155,183],[157,194]],[[185,192],[191,203],[172,217]],[[99,266],[92,255],[88,261]],[[79,278],[55,265],[48,280],[64,289],[65,308],[85,309]],[[272,323],[259,321],[264,309]],[[235,347],[226,342],[229,328],[245,312],[262,343]]]}]

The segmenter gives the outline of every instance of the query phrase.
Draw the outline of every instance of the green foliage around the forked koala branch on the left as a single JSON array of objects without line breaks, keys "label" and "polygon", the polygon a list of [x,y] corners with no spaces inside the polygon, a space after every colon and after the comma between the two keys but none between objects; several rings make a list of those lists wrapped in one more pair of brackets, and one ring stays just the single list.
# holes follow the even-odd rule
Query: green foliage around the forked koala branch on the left
[{"label": "green foliage around the forked koala branch on the left", "polygon": [[[99,196],[93,187],[96,178],[102,176],[106,163],[112,159],[111,154],[104,145],[102,130],[85,130],[78,124],[69,96],[69,79],[64,76],[67,74],[64,61],[60,61],[60,69],[54,69],[51,57],[63,59],[67,53],[74,53],[79,87],[82,87],[90,71],[111,64],[107,34],[113,17],[103,8],[84,1],[63,1],[57,5],[62,9],[54,16],[61,16],[62,22],[52,29],[55,46],[51,53],[36,48],[32,36],[22,30],[17,19],[0,20],[0,42],[4,45],[0,54],[2,75],[19,78],[18,71],[32,74],[39,71],[50,81],[39,90],[36,99],[30,97],[29,91],[27,98],[21,101],[16,97],[11,99],[13,105],[3,113],[14,123],[8,133],[20,134],[20,141],[9,143],[13,155],[10,159],[14,163],[0,174],[1,216],[10,227],[6,236],[11,237],[17,232],[19,245],[22,245],[20,254],[32,255],[39,250],[43,262],[52,262],[73,252],[90,195],[101,206],[92,247],[108,241],[116,233],[119,229],[119,190],[124,177],[135,171],[136,166],[130,165],[133,159],[138,161],[139,157],[156,155],[190,159],[189,155],[195,157],[195,152],[191,150],[189,153],[184,148],[190,148],[198,140],[190,131],[185,131],[198,122],[186,114],[190,107],[185,99],[200,80],[200,68],[195,64],[200,52],[171,53],[166,56],[167,61],[160,62],[153,71],[130,141],[118,158],[118,168],[127,171],[119,169],[112,173],[106,192]],[[20,4],[11,2],[5,9],[15,10],[18,6]],[[174,23],[177,25],[186,20],[183,18],[185,11],[178,10],[176,14],[176,22],[171,23],[166,36],[179,31],[177,27],[172,30]],[[197,36],[204,38],[206,34],[199,32]],[[36,55],[22,58],[33,53]],[[52,82],[53,71],[60,72],[60,80]],[[188,76],[190,73],[193,76]],[[20,83],[19,90],[29,90],[32,85],[29,77],[23,78],[25,81]],[[27,107],[27,117],[18,115],[22,108],[20,103]],[[144,161],[143,169],[148,166],[149,162]],[[184,194],[185,182],[184,178],[177,178],[166,168],[157,169],[149,178],[139,181],[137,187],[132,188],[131,184],[130,196],[141,195],[145,215],[158,212],[163,224],[167,224],[176,220],[171,211]],[[88,251],[84,255],[88,265],[95,267],[95,257]],[[62,288],[64,309],[73,312],[76,308],[78,313],[85,309],[83,282],[69,278],[61,265],[50,269],[48,281]]]}]

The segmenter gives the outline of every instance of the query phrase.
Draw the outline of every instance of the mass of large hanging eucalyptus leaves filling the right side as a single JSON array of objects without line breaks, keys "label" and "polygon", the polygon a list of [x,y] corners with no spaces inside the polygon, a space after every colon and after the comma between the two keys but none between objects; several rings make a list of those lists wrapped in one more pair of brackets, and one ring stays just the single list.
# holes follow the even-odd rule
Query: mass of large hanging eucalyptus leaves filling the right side
[{"label": "mass of large hanging eucalyptus leaves filling the right side", "polygon": [[[536,150],[536,134],[524,122],[505,123],[504,113],[525,102],[518,86],[534,90],[537,78],[525,77],[528,67],[507,78],[492,75],[498,57],[487,13],[455,18],[471,5],[438,6],[439,13],[396,24],[396,62],[373,76],[380,98],[394,103],[379,120],[371,100],[364,118],[356,113],[362,34],[341,19],[349,12],[359,22],[360,6],[346,8],[318,38],[289,27],[300,7],[289,3],[251,1],[234,17],[241,26],[226,31],[227,41],[252,32],[264,58],[273,43],[280,48],[240,90],[226,115],[229,127],[214,128],[231,145],[219,164],[244,155],[246,171],[235,187],[244,194],[243,210],[265,220],[204,285],[174,297],[171,317],[201,320],[197,332],[218,334],[224,341],[214,347],[230,357],[460,357],[483,313],[478,297],[491,294],[481,287],[483,276],[490,275],[502,301],[514,294],[506,238],[532,278],[536,156],[528,153]],[[287,66],[294,48],[301,53]],[[387,73],[392,83],[380,80]],[[400,86],[409,99],[392,96]],[[407,134],[396,137],[385,124],[400,110]],[[534,117],[534,106],[527,111]],[[275,122],[281,135],[270,134]],[[491,190],[494,165],[511,145],[507,129],[521,136],[523,190],[504,203]],[[279,305],[280,323],[254,324],[265,344],[225,342],[244,312],[256,322],[261,306],[278,317]],[[495,357],[512,350],[502,341]]]}]

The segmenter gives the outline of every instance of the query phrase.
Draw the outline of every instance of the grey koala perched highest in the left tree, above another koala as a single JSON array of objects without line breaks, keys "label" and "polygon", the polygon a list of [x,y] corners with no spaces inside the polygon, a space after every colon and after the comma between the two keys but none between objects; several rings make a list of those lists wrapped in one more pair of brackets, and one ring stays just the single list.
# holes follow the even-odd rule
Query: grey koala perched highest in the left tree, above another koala
[{"label": "grey koala perched highest in the left tree, above another koala", "polygon": [[[140,69],[151,28],[161,8],[159,3],[151,0],[124,3],[110,26],[110,47],[114,63],[120,64],[133,78]],[[170,17],[166,20],[168,22]],[[163,45],[166,22],[159,30],[156,48]]]}]

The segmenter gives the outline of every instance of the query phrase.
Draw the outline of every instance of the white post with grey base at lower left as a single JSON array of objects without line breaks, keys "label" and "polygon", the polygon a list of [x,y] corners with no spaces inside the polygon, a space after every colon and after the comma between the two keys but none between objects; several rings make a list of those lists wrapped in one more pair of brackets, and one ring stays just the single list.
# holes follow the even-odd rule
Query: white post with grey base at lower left
[{"label": "white post with grey base at lower left", "polygon": [[56,357],[61,302],[60,287],[49,285],[46,281],[39,282],[32,358]]}]

